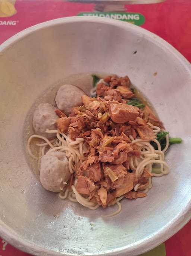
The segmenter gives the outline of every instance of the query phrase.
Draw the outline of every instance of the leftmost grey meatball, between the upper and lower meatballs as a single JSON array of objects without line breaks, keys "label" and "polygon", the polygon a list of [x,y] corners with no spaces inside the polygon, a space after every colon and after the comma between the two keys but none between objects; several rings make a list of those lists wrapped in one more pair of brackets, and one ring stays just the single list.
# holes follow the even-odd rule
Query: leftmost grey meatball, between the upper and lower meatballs
[{"label": "leftmost grey meatball, between the upper and lower meatballs", "polygon": [[57,114],[54,112],[56,108],[48,103],[41,103],[35,110],[32,120],[32,125],[35,133],[46,138],[52,138],[54,133],[46,133],[48,130],[57,130],[56,121],[58,119]]}]

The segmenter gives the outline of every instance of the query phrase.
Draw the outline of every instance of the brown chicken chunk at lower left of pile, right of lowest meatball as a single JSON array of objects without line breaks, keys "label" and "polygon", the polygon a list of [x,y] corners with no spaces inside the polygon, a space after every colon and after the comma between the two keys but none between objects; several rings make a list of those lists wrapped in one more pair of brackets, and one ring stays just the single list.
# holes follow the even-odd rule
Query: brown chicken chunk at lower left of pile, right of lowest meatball
[{"label": "brown chicken chunk at lower left of pile, right of lowest meatball", "polygon": [[93,181],[87,177],[79,176],[76,184],[76,190],[82,195],[90,195],[95,189]]}]

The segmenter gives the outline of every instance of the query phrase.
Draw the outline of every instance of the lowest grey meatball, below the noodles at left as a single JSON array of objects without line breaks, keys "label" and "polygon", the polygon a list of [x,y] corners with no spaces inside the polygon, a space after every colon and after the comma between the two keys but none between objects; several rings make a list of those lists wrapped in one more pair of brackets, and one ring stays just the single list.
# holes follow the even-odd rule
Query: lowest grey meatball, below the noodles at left
[{"label": "lowest grey meatball, below the noodles at left", "polygon": [[70,178],[68,159],[60,151],[46,153],[41,158],[40,182],[46,190],[60,192]]}]

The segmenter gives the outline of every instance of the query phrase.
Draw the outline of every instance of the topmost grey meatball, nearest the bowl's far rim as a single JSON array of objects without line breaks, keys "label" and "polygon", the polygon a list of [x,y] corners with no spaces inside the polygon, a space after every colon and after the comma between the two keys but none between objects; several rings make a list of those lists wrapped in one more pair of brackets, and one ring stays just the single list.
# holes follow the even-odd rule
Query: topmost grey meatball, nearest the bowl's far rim
[{"label": "topmost grey meatball, nearest the bowl's far rim", "polygon": [[69,115],[73,107],[82,105],[81,96],[84,94],[84,91],[80,90],[75,85],[62,85],[57,91],[55,98],[57,107],[66,115]]}]

